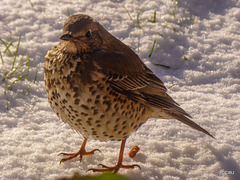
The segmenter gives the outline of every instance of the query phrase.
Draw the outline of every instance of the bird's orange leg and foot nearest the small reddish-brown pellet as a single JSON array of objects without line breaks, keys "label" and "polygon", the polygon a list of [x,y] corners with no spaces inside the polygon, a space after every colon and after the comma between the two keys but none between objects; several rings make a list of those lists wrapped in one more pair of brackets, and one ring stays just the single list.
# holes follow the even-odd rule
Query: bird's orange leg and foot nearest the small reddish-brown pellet
[{"label": "bird's orange leg and foot nearest the small reddish-brown pellet", "polygon": [[119,153],[119,158],[118,158],[118,162],[117,162],[116,166],[109,167],[109,166],[105,166],[103,164],[99,164],[100,166],[102,166],[103,169],[88,169],[88,171],[92,171],[92,172],[111,171],[113,173],[117,173],[120,168],[133,169],[134,167],[138,167],[139,169],[141,169],[140,166],[136,165],[136,164],[134,164],[134,165],[123,165],[122,164],[125,143],[126,143],[126,139],[122,140],[120,153]]}]

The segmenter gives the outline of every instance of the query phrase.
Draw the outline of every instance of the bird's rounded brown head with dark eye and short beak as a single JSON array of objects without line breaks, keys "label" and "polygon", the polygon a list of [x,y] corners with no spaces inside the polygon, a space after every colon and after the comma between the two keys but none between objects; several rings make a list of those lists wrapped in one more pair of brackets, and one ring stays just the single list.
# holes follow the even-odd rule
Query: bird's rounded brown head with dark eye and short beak
[{"label": "bird's rounded brown head with dark eye and short beak", "polygon": [[106,30],[93,18],[83,14],[69,17],[63,26],[61,40],[67,41],[66,50],[73,53],[101,49]]}]

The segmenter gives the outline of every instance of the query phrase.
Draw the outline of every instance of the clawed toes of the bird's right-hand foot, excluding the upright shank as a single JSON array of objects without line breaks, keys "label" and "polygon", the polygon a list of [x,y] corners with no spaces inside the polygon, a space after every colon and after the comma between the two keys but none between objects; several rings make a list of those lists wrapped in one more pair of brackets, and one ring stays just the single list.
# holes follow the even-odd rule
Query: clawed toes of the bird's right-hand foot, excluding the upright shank
[{"label": "clawed toes of the bird's right-hand foot, excluding the upright shank", "polygon": [[122,165],[122,164],[117,164],[116,166],[113,167],[109,167],[109,166],[105,166],[103,164],[99,164],[99,166],[102,166],[103,169],[88,169],[87,171],[92,171],[92,172],[113,172],[113,173],[117,173],[118,170],[120,168],[124,168],[124,169],[134,169],[134,167],[138,167],[141,170],[141,167],[137,164],[133,164],[133,165]]}]

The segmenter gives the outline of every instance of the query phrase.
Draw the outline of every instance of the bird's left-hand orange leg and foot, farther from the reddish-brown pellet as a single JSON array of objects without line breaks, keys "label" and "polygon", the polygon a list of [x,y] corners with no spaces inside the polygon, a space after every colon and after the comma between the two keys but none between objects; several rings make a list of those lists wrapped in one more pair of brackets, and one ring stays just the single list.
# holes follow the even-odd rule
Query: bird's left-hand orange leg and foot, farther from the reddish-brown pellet
[{"label": "bird's left-hand orange leg and foot, farther from the reddish-brown pellet", "polygon": [[79,150],[77,153],[70,153],[70,154],[68,154],[68,153],[60,153],[59,155],[69,156],[69,157],[67,157],[67,158],[63,158],[63,159],[60,161],[60,164],[61,164],[62,162],[65,162],[65,161],[68,161],[68,160],[70,160],[70,159],[73,159],[73,158],[75,158],[75,157],[77,157],[77,156],[79,156],[80,161],[81,161],[81,160],[82,160],[82,157],[85,156],[85,155],[92,155],[92,154],[94,154],[95,151],[101,152],[99,149],[94,149],[94,150],[92,150],[92,151],[87,152],[87,151],[85,150],[86,143],[87,143],[87,139],[85,138],[84,141],[83,141],[83,143],[82,143],[82,146],[81,146],[80,150]]}]

